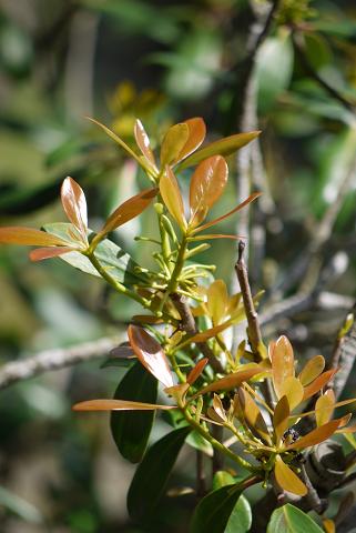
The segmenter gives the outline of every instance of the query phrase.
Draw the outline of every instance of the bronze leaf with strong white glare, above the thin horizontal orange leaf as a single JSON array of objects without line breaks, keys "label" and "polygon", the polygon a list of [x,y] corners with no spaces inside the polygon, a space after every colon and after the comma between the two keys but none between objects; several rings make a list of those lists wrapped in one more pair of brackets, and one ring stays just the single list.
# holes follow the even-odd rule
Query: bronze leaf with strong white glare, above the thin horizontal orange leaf
[{"label": "bronze leaf with strong white glare, above the thin horizontal orange leaf", "polygon": [[166,388],[173,386],[170,363],[161,344],[138,325],[130,325],[128,335],[132,350],[148,371]]}]

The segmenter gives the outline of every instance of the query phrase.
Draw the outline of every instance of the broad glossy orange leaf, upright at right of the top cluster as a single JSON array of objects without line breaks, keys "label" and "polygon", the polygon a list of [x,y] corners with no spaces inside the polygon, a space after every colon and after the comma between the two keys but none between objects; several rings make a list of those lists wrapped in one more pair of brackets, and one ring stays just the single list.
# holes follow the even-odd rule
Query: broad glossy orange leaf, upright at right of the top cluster
[{"label": "broad glossy orange leaf, upright at right of the top cluster", "polygon": [[228,169],[221,155],[202,161],[195,169],[190,187],[192,228],[199,225],[210,208],[222,195],[227,182]]}]

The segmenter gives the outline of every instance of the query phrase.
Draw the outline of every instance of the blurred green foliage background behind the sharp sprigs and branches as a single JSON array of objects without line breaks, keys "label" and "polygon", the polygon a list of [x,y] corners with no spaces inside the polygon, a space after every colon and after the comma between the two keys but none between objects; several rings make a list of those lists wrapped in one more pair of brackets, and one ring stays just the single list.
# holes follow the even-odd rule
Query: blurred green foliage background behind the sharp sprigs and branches
[{"label": "blurred green foliage background behind the sharp sprigs and branches", "polygon": [[[254,290],[266,290],[266,336],[287,333],[303,360],[332,352],[355,296],[356,7],[353,0],[281,4],[254,73],[254,122],[263,134],[253,187],[265,200],[252,211],[250,270]],[[58,198],[65,175],[85,190],[93,229],[145,187],[135,165],[87,115],[129,143],[136,117],[153,145],[170,124],[196,115],[211,139],[241,131],[252,21],[268,6],[1,0],[1,224],[64,221]],[[242,163],[231,159],[218,210],[236,204]],[[187,184],[183,175],[182,189]],[[115,235],[148,265],[152,249],[133,237],[148,229],[154,234],[153,220],[146,212]],[[236,228],[238,219],[224,229]],[[217,264],[217,276],[231,282],[233,242],[215,241],[200,259]],[[0,295],[1,364],[123,338],[136,311],[100,280],[60,260],[31,264],[27,250],[17,247],[0,250]],[[281,308],[293,296],[299,306]],[[75,401],[113,394],[124,369],[101,369],[104,361],[102,354],[0,391],[1,532],[186,531],[192,494],[165,497],[153,524],[130,522],[125,493],[134,467],[119,456],[109,418],[71,412]],[[152,440],[167,423],[156,424]],[[190,459],[194,452],[186,449],[173,487],[192,485]]]}]

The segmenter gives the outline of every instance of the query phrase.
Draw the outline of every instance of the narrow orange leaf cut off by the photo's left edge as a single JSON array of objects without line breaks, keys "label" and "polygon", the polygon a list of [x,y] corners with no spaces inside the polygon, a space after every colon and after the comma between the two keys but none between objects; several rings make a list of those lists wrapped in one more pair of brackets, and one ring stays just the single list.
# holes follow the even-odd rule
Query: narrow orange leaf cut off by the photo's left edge
[{"label": "narrow orange leaf cut off by the photo's left edge", "polygon": [[34,228],[10,225],[0,228],[0,244],[24,244],[28,247],[68,245],[68,242],[57,235]]}]

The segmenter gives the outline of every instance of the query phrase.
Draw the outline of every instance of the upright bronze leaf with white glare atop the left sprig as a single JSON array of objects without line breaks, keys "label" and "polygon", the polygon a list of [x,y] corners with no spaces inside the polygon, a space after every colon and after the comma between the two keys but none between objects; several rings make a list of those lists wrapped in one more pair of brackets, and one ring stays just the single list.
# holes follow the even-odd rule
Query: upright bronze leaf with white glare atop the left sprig
[{"label": "upright bronze leaf with white glare atop the left sprig", "polygon": [[82,188],[68,177],[61,187],[61,200],[70,222],[78,229],[82,240],[87,242],[88,212],[87,200]]}]

